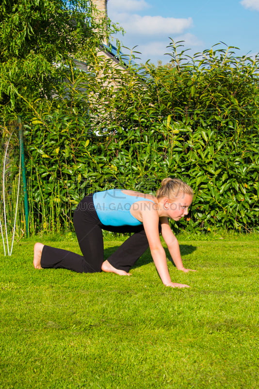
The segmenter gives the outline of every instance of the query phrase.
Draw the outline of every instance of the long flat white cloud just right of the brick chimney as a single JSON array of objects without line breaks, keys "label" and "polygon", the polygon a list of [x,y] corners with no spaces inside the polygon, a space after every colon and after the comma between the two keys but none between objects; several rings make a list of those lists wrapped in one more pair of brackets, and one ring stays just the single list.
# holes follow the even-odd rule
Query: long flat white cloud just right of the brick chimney
[{"label": "long flat white cloud just right of the brick chimney", "polygon": [[163,18],[162,16],[140,16],[126,13],[113,16],[127,33],[134,35],[182,34],[193,24],[192,18]]}]

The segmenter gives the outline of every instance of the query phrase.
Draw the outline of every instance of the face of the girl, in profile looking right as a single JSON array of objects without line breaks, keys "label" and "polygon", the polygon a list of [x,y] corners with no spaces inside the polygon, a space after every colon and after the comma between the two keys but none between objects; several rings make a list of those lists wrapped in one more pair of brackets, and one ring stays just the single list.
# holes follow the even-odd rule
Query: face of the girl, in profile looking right
[{"label": "face of the girl, in profile looking right", "polygon": [[174,199],[165,199],[164,200],[164,210],[167,214],[167,217],[170,217],[173,220],[180,220],[182,217],[186,216],[189,212],[189,207],[192,204],[193,196],[180,193]]}]

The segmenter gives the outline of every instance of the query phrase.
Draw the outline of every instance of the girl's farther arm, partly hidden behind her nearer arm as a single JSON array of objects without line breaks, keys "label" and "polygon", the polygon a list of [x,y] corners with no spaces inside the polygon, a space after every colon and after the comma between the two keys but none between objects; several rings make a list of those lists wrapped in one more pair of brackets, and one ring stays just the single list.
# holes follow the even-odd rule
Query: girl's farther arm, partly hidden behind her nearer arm
[{"label": "girl's farther arm, partly hidden behind her nearer arm", "polygon": [[183,266],[178,240],[171,230],[167,217],[161,217],[160,221],[162,227],[162,237],[178,270],[182,270],[184,272],[195,271],[191,269],[186,269]]}]

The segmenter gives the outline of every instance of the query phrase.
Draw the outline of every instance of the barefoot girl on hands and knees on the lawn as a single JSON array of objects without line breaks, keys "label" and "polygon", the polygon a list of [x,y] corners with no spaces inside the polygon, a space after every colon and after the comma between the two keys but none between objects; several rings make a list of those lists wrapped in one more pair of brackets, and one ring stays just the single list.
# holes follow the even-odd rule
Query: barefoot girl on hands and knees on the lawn
[{"label": "barefoot girl on hands and knees on the lawn", "polygon": [[[74,212],[73,223],[83,256],[42,243],[34,246],[33,265],[36,269],[62,267],[79,273],[113,272],[130,275],[129,268],[150,248],[162,283],[172,287],[189,287],[172,283],[160,232],[179,270],[185,269],[178,240],[168,218],[178,221],[187,215],[193,201],[193,190],[179,179],[164,178],[156,196],[111,189],[82,199]],[[106,260],[103,258],[102,230],[133,232]]]}]

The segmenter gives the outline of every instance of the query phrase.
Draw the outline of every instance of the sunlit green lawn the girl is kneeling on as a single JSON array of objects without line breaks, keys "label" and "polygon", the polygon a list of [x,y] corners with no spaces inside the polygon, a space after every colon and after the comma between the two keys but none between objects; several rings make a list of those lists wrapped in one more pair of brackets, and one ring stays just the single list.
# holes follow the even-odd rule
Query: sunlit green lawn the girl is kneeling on
[{"label": "sunlit green lawn the girl is kneeling on", "polygon": [[163,286],[148,251],[119,277],[34,270],[33,239],[0,247],[0,388],[258,388],[258,235],[179,243],[197,272],[169,270],[189,289]]}]

